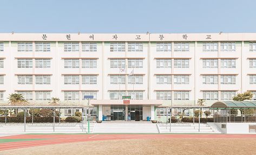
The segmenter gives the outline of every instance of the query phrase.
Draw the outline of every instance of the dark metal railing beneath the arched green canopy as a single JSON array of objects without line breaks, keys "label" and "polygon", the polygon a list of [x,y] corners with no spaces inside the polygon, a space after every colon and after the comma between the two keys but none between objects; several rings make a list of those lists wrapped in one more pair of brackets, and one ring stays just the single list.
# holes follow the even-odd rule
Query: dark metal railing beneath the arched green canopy
[{"label": "dark metal railing beneath the arched green canopy", "polygon": [[215,115],[214,122],[256,122],[256,114],[235,115],[235,114],[222,114]]}]

